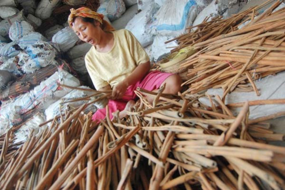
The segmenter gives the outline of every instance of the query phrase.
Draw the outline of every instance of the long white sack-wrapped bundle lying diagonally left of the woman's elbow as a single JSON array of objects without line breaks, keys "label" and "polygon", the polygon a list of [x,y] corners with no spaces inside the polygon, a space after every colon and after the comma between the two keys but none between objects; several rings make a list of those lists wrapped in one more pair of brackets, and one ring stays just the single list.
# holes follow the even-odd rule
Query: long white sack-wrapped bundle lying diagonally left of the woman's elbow
[{"label": "long white sack-wrapped bundle lying diagonally left of the woman's elbow", "polygon": [[54,73],[33,90],[19,95],[7,103],[2,104],[0,110],[0,135],[5,133],[13,125],[22,121],[22,114],[34,109],[35,107],[44,111],[49,105],[68,94],[71,89],[59,87],[58,83],[73,87],[78,87],[80,82],[70,73],[59,70]]}]

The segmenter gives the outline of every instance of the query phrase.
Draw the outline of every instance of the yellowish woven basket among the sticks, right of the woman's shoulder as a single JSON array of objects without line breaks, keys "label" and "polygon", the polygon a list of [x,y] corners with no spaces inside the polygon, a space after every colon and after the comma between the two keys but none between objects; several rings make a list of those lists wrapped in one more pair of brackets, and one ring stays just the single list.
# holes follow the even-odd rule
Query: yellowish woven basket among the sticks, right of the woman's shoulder
[{"label": "yellowish woven basket among the sticks, right of the woman's shoulder", "polygon": [[196,50],[193,48],[183,48],[179,52],[174,52],[169,54],[157,64],[159,65],[159,69],[168,72],[168,73],[175,73],[179,74],[182,80],[186,80],[187,69],[188,68],[180,68],[180,65],[186,61],[186,58],[194,54]]}]

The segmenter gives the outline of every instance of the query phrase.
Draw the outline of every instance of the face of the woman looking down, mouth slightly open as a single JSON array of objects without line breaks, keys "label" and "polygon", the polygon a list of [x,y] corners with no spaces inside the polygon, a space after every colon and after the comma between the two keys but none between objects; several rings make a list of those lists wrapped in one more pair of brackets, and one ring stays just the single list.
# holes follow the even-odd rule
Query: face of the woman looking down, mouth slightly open
[{"label": "face of the woman looking down, mouth slightly open", "polygon": [[101,39],[100,23],[94,20],[94,23],[84,22],[81,17],[76,17],[72,24],[72,29],[78,35],[80,40],[98,45]]}]

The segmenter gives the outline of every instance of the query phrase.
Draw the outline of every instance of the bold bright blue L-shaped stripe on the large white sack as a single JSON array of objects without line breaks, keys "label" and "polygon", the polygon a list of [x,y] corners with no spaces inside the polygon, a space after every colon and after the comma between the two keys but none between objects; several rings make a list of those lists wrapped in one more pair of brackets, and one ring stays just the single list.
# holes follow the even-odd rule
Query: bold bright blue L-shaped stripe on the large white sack
[{"label": "bold bright blue L-shaped stripe on the large white sack", "polygon": [[171,31],[177,31],[182,30],[186,24],[188,13],[190,11],[190,8],[193,5],[197,5],[195,0],[190,0],[186,3],[184,10],[183,10],[183,16],[179,24],[161,24],[156,26],[157,30],[171,30]]}]

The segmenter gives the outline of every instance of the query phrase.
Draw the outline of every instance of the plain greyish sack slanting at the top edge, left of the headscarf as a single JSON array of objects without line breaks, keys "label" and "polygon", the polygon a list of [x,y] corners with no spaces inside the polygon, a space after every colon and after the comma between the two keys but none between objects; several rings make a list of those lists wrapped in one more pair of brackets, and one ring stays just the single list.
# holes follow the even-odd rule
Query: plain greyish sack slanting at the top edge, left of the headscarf
[{"label": "plain greyish sack slanting at the top edge, left of the headscarf", "polygon": [[52,15],[52,11],[60,0],[41,0],[35,11],[35,16],[41,19],[47,19]]}]

